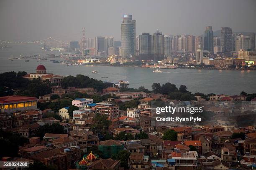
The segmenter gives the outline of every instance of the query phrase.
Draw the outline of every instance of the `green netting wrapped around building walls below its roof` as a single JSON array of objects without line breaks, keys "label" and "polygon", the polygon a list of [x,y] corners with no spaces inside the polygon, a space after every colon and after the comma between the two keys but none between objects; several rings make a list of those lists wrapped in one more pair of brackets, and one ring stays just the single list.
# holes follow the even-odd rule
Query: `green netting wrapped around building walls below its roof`
[{"label": "green netting wrapped around building walls below its roof", "polygon": [[119,153],[121,150],[124,150],[123,145],[99,145],[99,150],[102,152],[103,158],[110,158],[111,155]]}]

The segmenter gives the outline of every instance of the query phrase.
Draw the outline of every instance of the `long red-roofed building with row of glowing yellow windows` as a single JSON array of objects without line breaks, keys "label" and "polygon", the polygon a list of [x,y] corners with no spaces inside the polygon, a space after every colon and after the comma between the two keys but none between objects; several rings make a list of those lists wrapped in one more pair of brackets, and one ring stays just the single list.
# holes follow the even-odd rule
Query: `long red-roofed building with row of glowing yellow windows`
[{"label": "long red-roofed building with row of glowing yellow windows", "polygon": [[3,96],[0,97],[0,109],[1,113],[14,113],[18,110],[28,110],[28,109],[37,109],[36,97],[28,96]]}]

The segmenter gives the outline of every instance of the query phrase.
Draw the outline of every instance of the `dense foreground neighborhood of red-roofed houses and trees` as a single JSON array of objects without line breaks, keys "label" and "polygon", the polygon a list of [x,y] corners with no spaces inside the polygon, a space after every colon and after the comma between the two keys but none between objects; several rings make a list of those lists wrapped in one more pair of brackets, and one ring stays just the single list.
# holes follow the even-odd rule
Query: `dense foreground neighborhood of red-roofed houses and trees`
[{"label": "dense foreground neighborhood of red-roofed houses and trees", "polygon": [[[37,67],[41,74],[43,66]],[[21,85],[6,87],[11,94],[0,97],[2,161],[56,170],[256,168],[255,94],[192,94],[171,83],[154,83],[149,91],[83,75],[63,76],[59,85],[27,77],[20,79],[45,90],[33,94]],[[191,116],[156,114],[165,106],[202,106],[203,112],[192,115],[202,121],[157,121]]]}]

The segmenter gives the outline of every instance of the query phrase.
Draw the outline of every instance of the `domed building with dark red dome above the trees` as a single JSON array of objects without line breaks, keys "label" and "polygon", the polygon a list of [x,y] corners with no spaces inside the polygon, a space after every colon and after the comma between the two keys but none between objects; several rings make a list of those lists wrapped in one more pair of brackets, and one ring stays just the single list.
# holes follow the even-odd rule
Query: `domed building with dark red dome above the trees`
[{"label": "domed building with dark red dome above the trees", "polygon": [[40,77],[42,82],[51,82],[56,84],[57,87],[61,86],[61,80],[66,77],[66,76],[61,76],[61,75],[54,75],[51,72],[46,72],[46,67],[44,65],[38,65],[36,67],[36,72],[35,73],[30,73],[25,76],[24,78],[28,78],[29,80],[37,79]]}]

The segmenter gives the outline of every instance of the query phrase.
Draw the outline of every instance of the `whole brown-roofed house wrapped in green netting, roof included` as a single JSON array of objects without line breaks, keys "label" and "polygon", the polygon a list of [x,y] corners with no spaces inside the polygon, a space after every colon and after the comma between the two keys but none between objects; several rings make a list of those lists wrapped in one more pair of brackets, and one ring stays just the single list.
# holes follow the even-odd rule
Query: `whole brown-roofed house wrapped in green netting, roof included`
[{"label": "whole brown-roofed house wrapped in green netting, roof included", "polygon": [[102,141],[98,148],[102,152],[103,158],[110,158],[111,155],[118,154],[121,150],[124,150],[124,146],[119,140]]}]

